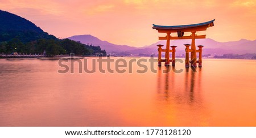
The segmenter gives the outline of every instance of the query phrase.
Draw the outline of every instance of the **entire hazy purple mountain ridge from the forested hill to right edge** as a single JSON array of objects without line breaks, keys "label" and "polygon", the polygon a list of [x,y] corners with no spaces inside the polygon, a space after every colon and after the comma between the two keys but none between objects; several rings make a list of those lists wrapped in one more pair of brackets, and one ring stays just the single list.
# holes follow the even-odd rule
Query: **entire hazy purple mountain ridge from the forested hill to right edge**
[{"label": "entire hazy purple mountain ridge from the forested hill to right edge", "polygon": [[[116,54],[132,54],[132,55],[150,55],[152,53],[158,54],[158,47],[156,45],[162,44],[163,49],[166,48],[166,40],[158,41],[154,44],[143,46],[141,48],[136,48],[127,45],[115,45],[108,41],[102,41],[97,37],[91,35],[81,35],[69,37],[71,40],[80,41],[83,44],[93,44],[99,45],[102,49],[105,49],[107,53]],[[176,45],[176,53],[184,54],[185,46],[184,44],[191,44],[191,40],[171,40],[170,45]],[[197,39],[196,45],[204,45],[203,54],[246,54],[246,53],[256,53],[256,40],[250,41],[246,39],[241,39],[239,41],[228,41],[228,42],[218,42],[211,38]]]}]

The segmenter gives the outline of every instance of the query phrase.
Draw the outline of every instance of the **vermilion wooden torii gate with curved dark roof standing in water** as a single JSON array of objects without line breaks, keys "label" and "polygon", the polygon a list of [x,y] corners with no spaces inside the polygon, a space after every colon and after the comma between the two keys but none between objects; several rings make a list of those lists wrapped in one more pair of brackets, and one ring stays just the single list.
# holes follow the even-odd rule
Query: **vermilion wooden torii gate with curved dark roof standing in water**
[{"label": "vermilion wooden torii gate with curved dark roof standing in water", "polygon": [[[215,19],[214,19],[215,20]],[[175,25],[175,26],[163,26],[153,24],[153,29],[156,29],[159,33],[167,33],[166,37],[159,37],[159,40],[167,40],[166,49],[162,49],[163,45],[158,45],[158,66],[161,66],[161,62],[165,62],[165,66],[172,65],[175,66],[175,48],[177,46],[171,46],[170,50],[170,40],[179,40],[179,39],[191,39],[191,44],[184,44],[185,48],[185,67],[189,67],[189,52],[191,52],[191,66],[196,67],[196,63],[199,62],[199,67],[202,66],[202,45],[199,45],[199,50],[196,50],[195,39],[205,38],[206,35],[197,36],[196,32],[206,31],[208,27],[213,27],[213,21],[207,21],[205,23],[199,24],[188,24],[188,25]],[[190,36],[184,36],[184,32],[191,32]],[[177,33],[177,36],[171,36],[171,33]],[[191,49],[189,49],[191,46]],[[162,59],[162,52],[166,52],[165,59]],[[172,59],[170,60],[170,52],[172,52]],[[199,61],[196,59],[196,53],[199,53]]]}]

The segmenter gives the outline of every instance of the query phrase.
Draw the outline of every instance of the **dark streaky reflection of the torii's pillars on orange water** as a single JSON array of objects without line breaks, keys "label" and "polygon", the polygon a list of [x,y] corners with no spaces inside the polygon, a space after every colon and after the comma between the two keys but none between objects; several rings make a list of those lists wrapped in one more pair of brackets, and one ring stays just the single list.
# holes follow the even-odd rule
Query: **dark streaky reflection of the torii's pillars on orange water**
[{"label": "dark streaky reflection of the torii's pillars on orange water", "polygon": [[[170,100],[170,97],[174,95],[180,95],[181,97],[184,97],[183,100],[186,100],[189,103],[193,103],[195,100],[195,94],[199,94],[201,90],[201,68],[199,68],[199,70],[196,70],[196,68],[193,67],[191,67],[191,70],[189,70],[189,68],[186,68],[184,73],[185,78],[183,88],[178,87],[179,85],[175,85],[175,81],[178,81],[179,79],[177,80],[177,77],[175,77],[176,73],[174,71],[171,71],[171,67],[167,66],[165,68],[165,70],[167,70],[167,73],[163,74],[162,70],[164,70],[164,68],[159,67],[157,80],[158,94],[163,94],[162,96],[164,100],[167,101]],[[179,81],[179,83],[181,82]]]}]

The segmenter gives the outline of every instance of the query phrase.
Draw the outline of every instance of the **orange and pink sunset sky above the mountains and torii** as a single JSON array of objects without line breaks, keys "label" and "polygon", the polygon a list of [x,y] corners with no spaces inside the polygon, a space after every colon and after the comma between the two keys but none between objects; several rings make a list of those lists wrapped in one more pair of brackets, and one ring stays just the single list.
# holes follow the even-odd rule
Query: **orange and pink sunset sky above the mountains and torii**
[{"label": "orange and pink sunset sky above the mountains and torii", "polygon": [[[22,16],[56,37],[93,35],[114,44],[150,45],[152,24],[182,25],[216,19],[207,38],[256,39],[256,1],[0,0],[0,9]],[[201,33],[199,33],[201,34]]]}]

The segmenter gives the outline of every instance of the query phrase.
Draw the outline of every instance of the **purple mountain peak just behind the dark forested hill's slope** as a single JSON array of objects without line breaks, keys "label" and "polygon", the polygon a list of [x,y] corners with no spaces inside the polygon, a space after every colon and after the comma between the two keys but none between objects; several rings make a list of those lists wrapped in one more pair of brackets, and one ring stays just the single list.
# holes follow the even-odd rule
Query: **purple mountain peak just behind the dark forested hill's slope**
[{"label": "purple mountain peak just behind the dark forested hill's slope", "polygon": [[101,46],[101,49],[104,49],[107,51],[107,53],[120,53],[125,51],[131,51],[135,50],[137,48],[133,46],[127,46],[127,45],[115,45],[108,41],[102,41],[97,37],[94,37],[92,35],[80,35],[80,36],[72,36],[69,37],[70,40],[79,41],[82,44],[92,44],[92,45],[98,45]]}]

